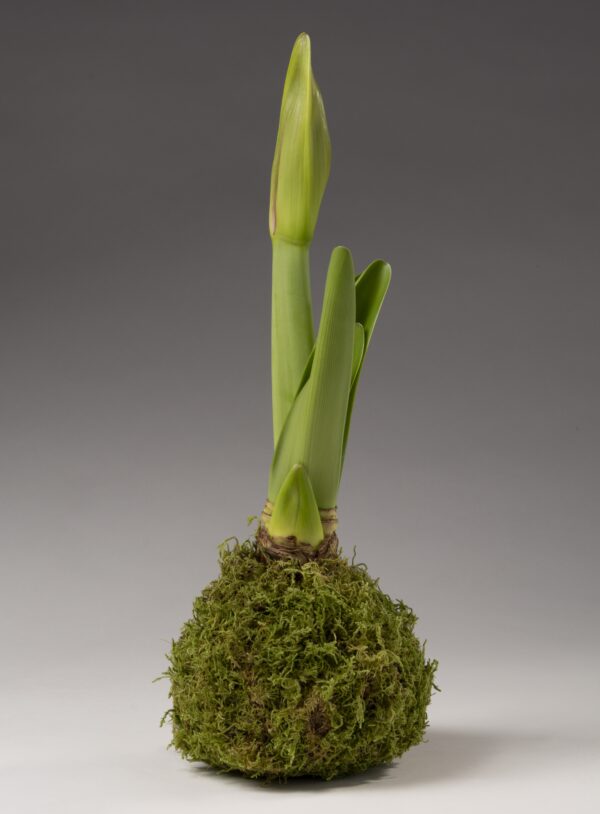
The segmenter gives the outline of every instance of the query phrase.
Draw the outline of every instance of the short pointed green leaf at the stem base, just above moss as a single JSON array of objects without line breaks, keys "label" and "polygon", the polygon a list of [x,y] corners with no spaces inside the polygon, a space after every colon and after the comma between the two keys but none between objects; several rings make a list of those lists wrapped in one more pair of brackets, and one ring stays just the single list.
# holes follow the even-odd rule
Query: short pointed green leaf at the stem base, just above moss
[{"label": "short pointed green leaf at the stem base, just above moss", "polygon": [[295,537],[318,546],[323,539],[319,507],[306,469],[295,464],[284,480],[267,526],[271,537]]}]

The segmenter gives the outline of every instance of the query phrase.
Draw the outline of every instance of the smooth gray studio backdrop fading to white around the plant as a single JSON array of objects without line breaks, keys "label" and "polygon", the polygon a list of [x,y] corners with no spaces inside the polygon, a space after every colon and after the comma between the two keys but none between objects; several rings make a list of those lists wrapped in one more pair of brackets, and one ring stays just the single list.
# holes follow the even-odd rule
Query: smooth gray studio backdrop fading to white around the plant
[{"label": "smooth gray studio backdrop fading to white around the plant", "polygon": [[[165,753],[150,683],[265,497],[269,174],[302,30],[333,143],[316,313],[334,245],[394,272],[340,536],[415,608],[443,690],[430,743],[350,790],[597,810],[599,11],[2,3],[6,810],[324,799]],[[364,807],[349,783],[328,810]]]}]

